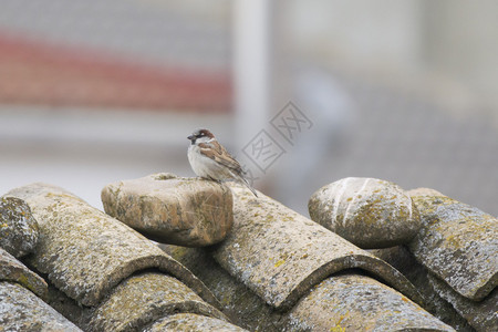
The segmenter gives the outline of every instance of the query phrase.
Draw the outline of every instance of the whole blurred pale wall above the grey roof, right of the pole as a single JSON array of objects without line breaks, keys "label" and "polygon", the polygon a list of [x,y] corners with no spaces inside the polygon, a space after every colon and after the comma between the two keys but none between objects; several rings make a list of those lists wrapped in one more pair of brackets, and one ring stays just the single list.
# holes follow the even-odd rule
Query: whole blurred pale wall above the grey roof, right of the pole
[{"label": "whole blurred pale wall above the grey roof, right of the pole", "polygon": [[[424,90],[455,112],[498,106],[494,0],[281,1],[288,54]],[[278,13],[279,11],[277,11]],[[443,86],[442,86],[443,85]],[[458,105],[460,103],[461,105]],[[498,126],[498,112],[488,110]]]}]

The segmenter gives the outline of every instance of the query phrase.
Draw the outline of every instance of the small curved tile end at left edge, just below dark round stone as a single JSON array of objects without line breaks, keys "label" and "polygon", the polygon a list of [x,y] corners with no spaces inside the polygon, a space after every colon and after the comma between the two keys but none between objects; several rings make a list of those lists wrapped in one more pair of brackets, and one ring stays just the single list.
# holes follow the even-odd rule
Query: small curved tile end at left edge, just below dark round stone
[{"label": "small curved tile end at left edge, just below dark round stone", "polygon": [[2,248],[0,248],[0,281],[20,283],[38,297],[46,299],[46,282]]}]

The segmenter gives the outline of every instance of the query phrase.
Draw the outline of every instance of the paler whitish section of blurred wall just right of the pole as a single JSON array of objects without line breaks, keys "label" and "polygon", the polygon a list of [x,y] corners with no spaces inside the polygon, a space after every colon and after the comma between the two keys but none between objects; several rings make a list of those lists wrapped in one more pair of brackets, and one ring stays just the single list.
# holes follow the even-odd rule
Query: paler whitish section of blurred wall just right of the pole
[{"label": "paler whitish section of blurred wall just right of the pole", "polygon": [[293,0],[286,20],[294,50],[362,66],[417,66],[422,3],[417,0]]}]

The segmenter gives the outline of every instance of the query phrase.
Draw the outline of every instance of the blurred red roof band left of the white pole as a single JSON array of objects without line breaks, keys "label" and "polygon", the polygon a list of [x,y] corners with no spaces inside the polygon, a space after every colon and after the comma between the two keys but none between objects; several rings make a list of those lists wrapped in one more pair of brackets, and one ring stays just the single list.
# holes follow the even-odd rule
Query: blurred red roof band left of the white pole
[{"label": "blurred red roof band left of the white pole", "polygon": [[230,110],[230,73],[170,68],[0,32],[0,103]]}]

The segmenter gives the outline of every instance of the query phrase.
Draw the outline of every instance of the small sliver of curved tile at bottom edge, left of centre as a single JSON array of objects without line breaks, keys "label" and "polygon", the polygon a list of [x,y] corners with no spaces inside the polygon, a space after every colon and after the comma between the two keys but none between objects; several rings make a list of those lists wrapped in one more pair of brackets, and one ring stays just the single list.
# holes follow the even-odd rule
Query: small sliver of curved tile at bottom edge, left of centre
[{"label": "small sliver of curved tile at bottom edge, left of centre", "polygon": [[242,332],[247,331],[230,324],[228,322],[198,315],[195,313],[178,313],[170,317],[166,317],[155,322],[149,328],[143,330],[144,332],[163,332],[163,331],[186,331],[186,332]]}]

